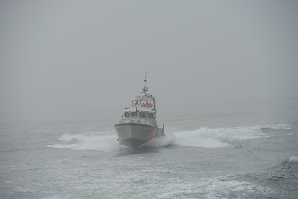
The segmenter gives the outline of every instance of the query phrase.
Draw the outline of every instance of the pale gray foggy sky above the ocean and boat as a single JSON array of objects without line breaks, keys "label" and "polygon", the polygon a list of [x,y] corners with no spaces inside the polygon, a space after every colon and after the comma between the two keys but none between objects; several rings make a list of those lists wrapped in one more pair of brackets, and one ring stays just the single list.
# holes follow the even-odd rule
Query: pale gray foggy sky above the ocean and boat
[{"label": "pale gray foggy sky above the ocean and boat", "polygon": [[297,10],[271,0],[1,0],[1,115],[122,111],[145,68],[160,109],[297,97]]}]

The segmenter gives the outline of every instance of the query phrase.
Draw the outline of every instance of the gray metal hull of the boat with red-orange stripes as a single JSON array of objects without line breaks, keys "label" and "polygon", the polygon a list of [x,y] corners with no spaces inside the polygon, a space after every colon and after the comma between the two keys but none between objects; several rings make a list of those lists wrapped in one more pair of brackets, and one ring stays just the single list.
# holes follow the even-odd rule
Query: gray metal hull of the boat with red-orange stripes
[{"label": "gray metal hull of the boat with red-orange stripes", "polygon": [[118,135],[119,144],[124,144],[131,149],[135,149],[154,138],[164,135],[164,129],[147,124],[120,123],[114,125]]}]

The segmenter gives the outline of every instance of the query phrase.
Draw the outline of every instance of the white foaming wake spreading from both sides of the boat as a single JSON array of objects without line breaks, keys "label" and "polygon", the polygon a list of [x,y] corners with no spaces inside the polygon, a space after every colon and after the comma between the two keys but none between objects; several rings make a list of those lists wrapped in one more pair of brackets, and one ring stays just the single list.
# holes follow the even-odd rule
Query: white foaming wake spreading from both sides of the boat
[{"label": "white foaming wake spreading from both sides of the boat", "polygon": [[[142,146],[139,146],[139,148],[144,146],[154,148],[169,145],[221,148],[230,146],[230,143],[235,140],[277,136],[265,133],[270,132],[270,129],[287,130],[291,128],[288,124],[253,125],[215,129],[203,127],[192,131],[167,133],[166,137],[152,139]],[[64,141],[65,144],[55,143],[44,147],[71,148],[73,150],[94,150],[102,152],[115,152],[128,149],[127,146],[118,144],[117,135],[115,135],[113,132],[101,132],[101,135],[98,135],[98,132],[93,132],[89,135],[63,134],[58,141]]]}]

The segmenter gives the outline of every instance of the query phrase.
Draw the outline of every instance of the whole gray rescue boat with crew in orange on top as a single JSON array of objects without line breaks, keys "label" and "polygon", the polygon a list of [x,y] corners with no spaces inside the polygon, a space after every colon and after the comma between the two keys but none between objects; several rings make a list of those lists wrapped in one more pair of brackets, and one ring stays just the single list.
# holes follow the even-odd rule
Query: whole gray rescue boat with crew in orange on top
[{"label": "whole gray rescue boat with crew in orange on top", "polygon": [[147,92],[146,74],[147,72],[145,72],[142,92],[132,98],[132,103],[124,110],[122,121],[114,125],[119,144],[124,144],[131,149],[135,149],[154,138],[164,136],[164,124],[159,128],[156,121],[155,98]]}]

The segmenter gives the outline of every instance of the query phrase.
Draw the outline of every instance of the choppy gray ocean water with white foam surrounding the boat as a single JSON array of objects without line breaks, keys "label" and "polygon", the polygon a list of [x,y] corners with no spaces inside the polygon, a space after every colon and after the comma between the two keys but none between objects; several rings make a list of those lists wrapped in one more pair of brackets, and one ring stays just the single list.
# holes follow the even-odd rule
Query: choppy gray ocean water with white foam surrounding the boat
[{"label": "choppy gray ocean water with white foam surrounding the boat", "polygon": [[296,101],[160,108],[166,137],[135,151],[119,119],[1,120],[0,198],[297,198]]}]

